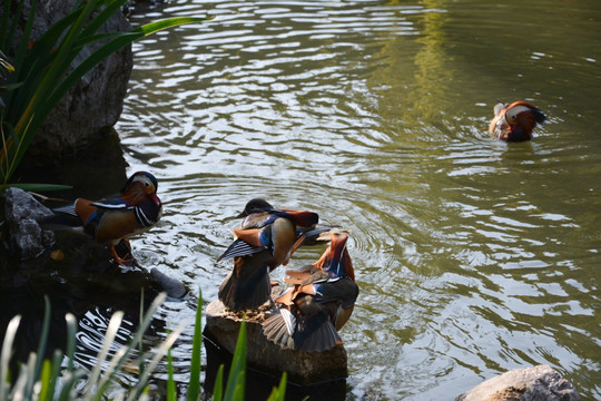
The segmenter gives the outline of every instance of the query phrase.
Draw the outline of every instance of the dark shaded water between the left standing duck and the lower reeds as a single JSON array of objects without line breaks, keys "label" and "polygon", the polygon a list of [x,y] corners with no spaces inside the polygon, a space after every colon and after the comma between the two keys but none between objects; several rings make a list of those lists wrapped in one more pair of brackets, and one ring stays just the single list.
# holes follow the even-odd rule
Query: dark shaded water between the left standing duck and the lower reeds
[{"label": "dark shaded water between the left standing duck and the lower reeds", "polygon": [[[78,321],[76,361],[92,366],[112,313],[124,311],[122,330],[135,332],[140,307],[146,310],[161,290],[146,270],[112,263],[104,246],[83,236],[57,236],[58,243],[69,247],[62,261],[50,257],[52,250],[29,261],[12,257],[3,247],[0,251],[0,343],[10,320],[21,315],[11,362],[14,376],[17,363],[26,362],[29,353],[38,349],[46,297],[51,314],[45,358],[50,358],[53,350],[65,351],[65,315],[70,313]],[[161,325],[155,321],[150,330]],[[120,338],[125,344],[129,335]]]}]

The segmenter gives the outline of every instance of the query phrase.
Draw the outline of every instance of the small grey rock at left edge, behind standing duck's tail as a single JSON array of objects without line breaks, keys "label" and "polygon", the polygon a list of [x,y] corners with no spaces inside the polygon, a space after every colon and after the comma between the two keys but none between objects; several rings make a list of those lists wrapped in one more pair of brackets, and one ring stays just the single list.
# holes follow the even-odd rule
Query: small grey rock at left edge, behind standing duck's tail
[{"label": "small grey rock at left edge, behind standing duck's tail", "polygon": [[23,260],[40,255],[49,238],[38,221],[51,216],[52,212],[22,189],[8,188],[4,197],[4,222],[11,245]]}]

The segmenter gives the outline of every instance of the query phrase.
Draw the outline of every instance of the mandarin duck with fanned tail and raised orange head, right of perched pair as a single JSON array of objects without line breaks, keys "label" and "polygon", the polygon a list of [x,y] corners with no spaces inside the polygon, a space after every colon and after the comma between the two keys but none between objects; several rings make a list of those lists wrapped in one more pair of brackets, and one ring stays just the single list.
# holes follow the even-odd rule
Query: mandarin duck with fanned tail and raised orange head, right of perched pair
[{"label": "mandarin duck with fanned tail and raised orange head, right of perched pair", "polygon": [[278,299],[278,312],[263,322],[267,340],[283,349],[322,352],[342,343],[337,331],[348,321],[358,286],[346,241],[334,233],[322,257],[300,271],[287,271],[293,284]]}]

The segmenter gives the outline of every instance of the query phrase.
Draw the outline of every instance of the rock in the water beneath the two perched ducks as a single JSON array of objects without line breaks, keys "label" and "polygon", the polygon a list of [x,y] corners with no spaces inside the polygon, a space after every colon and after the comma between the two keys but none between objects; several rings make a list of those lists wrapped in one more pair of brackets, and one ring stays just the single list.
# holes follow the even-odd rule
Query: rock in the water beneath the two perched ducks
[{"label": "rock in the water beneath the two perched ducks", "polygon": [[236,350],[240,322],[246,322],[248,365],[259,371],[279,376],[288,373],[288,379],[297,384],[308,385],[317,382],[345,379],[347,356],[343,345],[336,345],[325,352],[300,352],[283,350],[268,341],[263,334],[262,323],[266,312],[257,309],[245,313],[233,313],[226,310],[220,301],[211,302],[206,310],[206,329],[229,353]]}]

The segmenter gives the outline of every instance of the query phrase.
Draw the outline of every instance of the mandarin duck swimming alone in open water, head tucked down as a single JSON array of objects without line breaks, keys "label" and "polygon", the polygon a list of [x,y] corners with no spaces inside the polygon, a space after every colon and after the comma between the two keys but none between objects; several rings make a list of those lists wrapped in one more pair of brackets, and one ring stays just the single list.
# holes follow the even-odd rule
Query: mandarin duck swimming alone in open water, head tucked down
[{"label": "mandarin duck swimming alone in open water, head tucked down", "polygon": [[499,101],[494,106],[494,118],[489,133],[506,141],[530,140],[536,124],[544,123],[545,118],[541,110],[528,101],[514,101],[511,105]]}]

